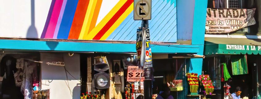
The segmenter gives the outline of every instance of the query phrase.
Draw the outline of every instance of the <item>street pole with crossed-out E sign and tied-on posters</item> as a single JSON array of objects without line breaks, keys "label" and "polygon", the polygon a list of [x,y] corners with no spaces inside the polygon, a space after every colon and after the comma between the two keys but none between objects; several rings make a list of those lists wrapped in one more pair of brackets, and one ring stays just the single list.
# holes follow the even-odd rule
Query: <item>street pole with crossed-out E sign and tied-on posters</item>
[{"label": "street pole with crossed-out E sign and tied-on posters", "polygon": [[[152,54],[149,38],[149,20],[151,19],[151,0],[134,0],[134,20],[142,20],[141,28],[137,29],[136,50],[138,65],[144,69],[144,99],[152,99]],[[141,36],[142,35],[142,36]],[[142,40],[141,40],[142,38]],[[142,44],[141,44],[142,43]]]}]

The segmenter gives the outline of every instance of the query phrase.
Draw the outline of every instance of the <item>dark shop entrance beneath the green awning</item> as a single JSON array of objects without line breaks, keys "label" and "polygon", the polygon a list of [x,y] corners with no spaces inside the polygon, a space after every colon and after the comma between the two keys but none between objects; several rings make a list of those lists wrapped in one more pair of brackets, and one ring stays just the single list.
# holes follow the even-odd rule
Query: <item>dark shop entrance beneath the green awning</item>
[{"label": "dark shop entrance beneath the green awning", "polygon": [[[261,99],[261,66],[259,66],[261,65],[261,56],[246,55],[246,73],[235,74],[233,72],[239,71],[240,68],[234,68],[233,70],[232,60],[235,57],[241,56],[243,55],[220,55],[207,57],[204,59],[203,71],[204,73],[212,76],[212,82],[215,84],[214,93],[216,96],[211,97],[211,99],[220,99],[225,97],[226,90],[223,87],[225,84],[231,86],[229,89],[231,94],[235,92],[236,87],[240,87],[242,90],[240,95],[241,98],[248,97],[249,99]],[[224,80],[224,65],[222,65],[224,63],[226,64],[228,73],[231,76],[228,80]],[[244,68],[244,66],[242,67]],[[215,75],[217,78],[214,77]]]}]

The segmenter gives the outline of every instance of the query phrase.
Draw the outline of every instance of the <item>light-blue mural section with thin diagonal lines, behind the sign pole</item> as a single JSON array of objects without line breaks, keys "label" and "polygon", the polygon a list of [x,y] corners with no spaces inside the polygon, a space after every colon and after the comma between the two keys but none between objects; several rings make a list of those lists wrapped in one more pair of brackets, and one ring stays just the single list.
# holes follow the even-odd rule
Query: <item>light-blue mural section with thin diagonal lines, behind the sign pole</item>
[{"label": "light-blue mural section with thin diagonal lines, behind the sign pole", "polygon": [[[175,36],[175,32],[177,31],[177,9],[175,8],[175,1],[176,0],[152,0],[152,20],[149,20],[151,41],[162,42],[163,40],[168,41],[172,37],[177,37]],[[138,27],[141,27],[141,21],[134,21],[133,12],[131,12],[106,40],[135,41]],[[176,39],[177,38],[174,38],[174,40]]]}]

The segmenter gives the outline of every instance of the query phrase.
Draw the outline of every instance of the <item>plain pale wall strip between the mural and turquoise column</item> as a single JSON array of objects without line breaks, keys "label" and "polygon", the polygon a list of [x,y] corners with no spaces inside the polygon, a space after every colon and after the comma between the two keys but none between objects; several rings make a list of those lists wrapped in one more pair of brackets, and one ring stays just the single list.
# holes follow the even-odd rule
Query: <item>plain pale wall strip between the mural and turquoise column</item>
[{"label": "plain pale wall strip between the mural and turquoise column", "polygon": [[195,0],[177,0],[178,39],[183,39],[183,40],[192,39],[194,7],[195,7]]}]

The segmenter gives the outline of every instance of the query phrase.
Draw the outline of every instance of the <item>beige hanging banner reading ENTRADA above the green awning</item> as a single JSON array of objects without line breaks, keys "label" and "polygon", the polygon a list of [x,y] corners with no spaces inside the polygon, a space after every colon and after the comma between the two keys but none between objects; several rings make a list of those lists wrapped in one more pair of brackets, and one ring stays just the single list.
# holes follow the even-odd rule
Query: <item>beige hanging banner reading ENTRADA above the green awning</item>
[{"label": "beige hanging banner reading ENTRADA above the green awning", "polygon": [[255,24],[255,9],[207,8],[206,33],[229,33]]}]

